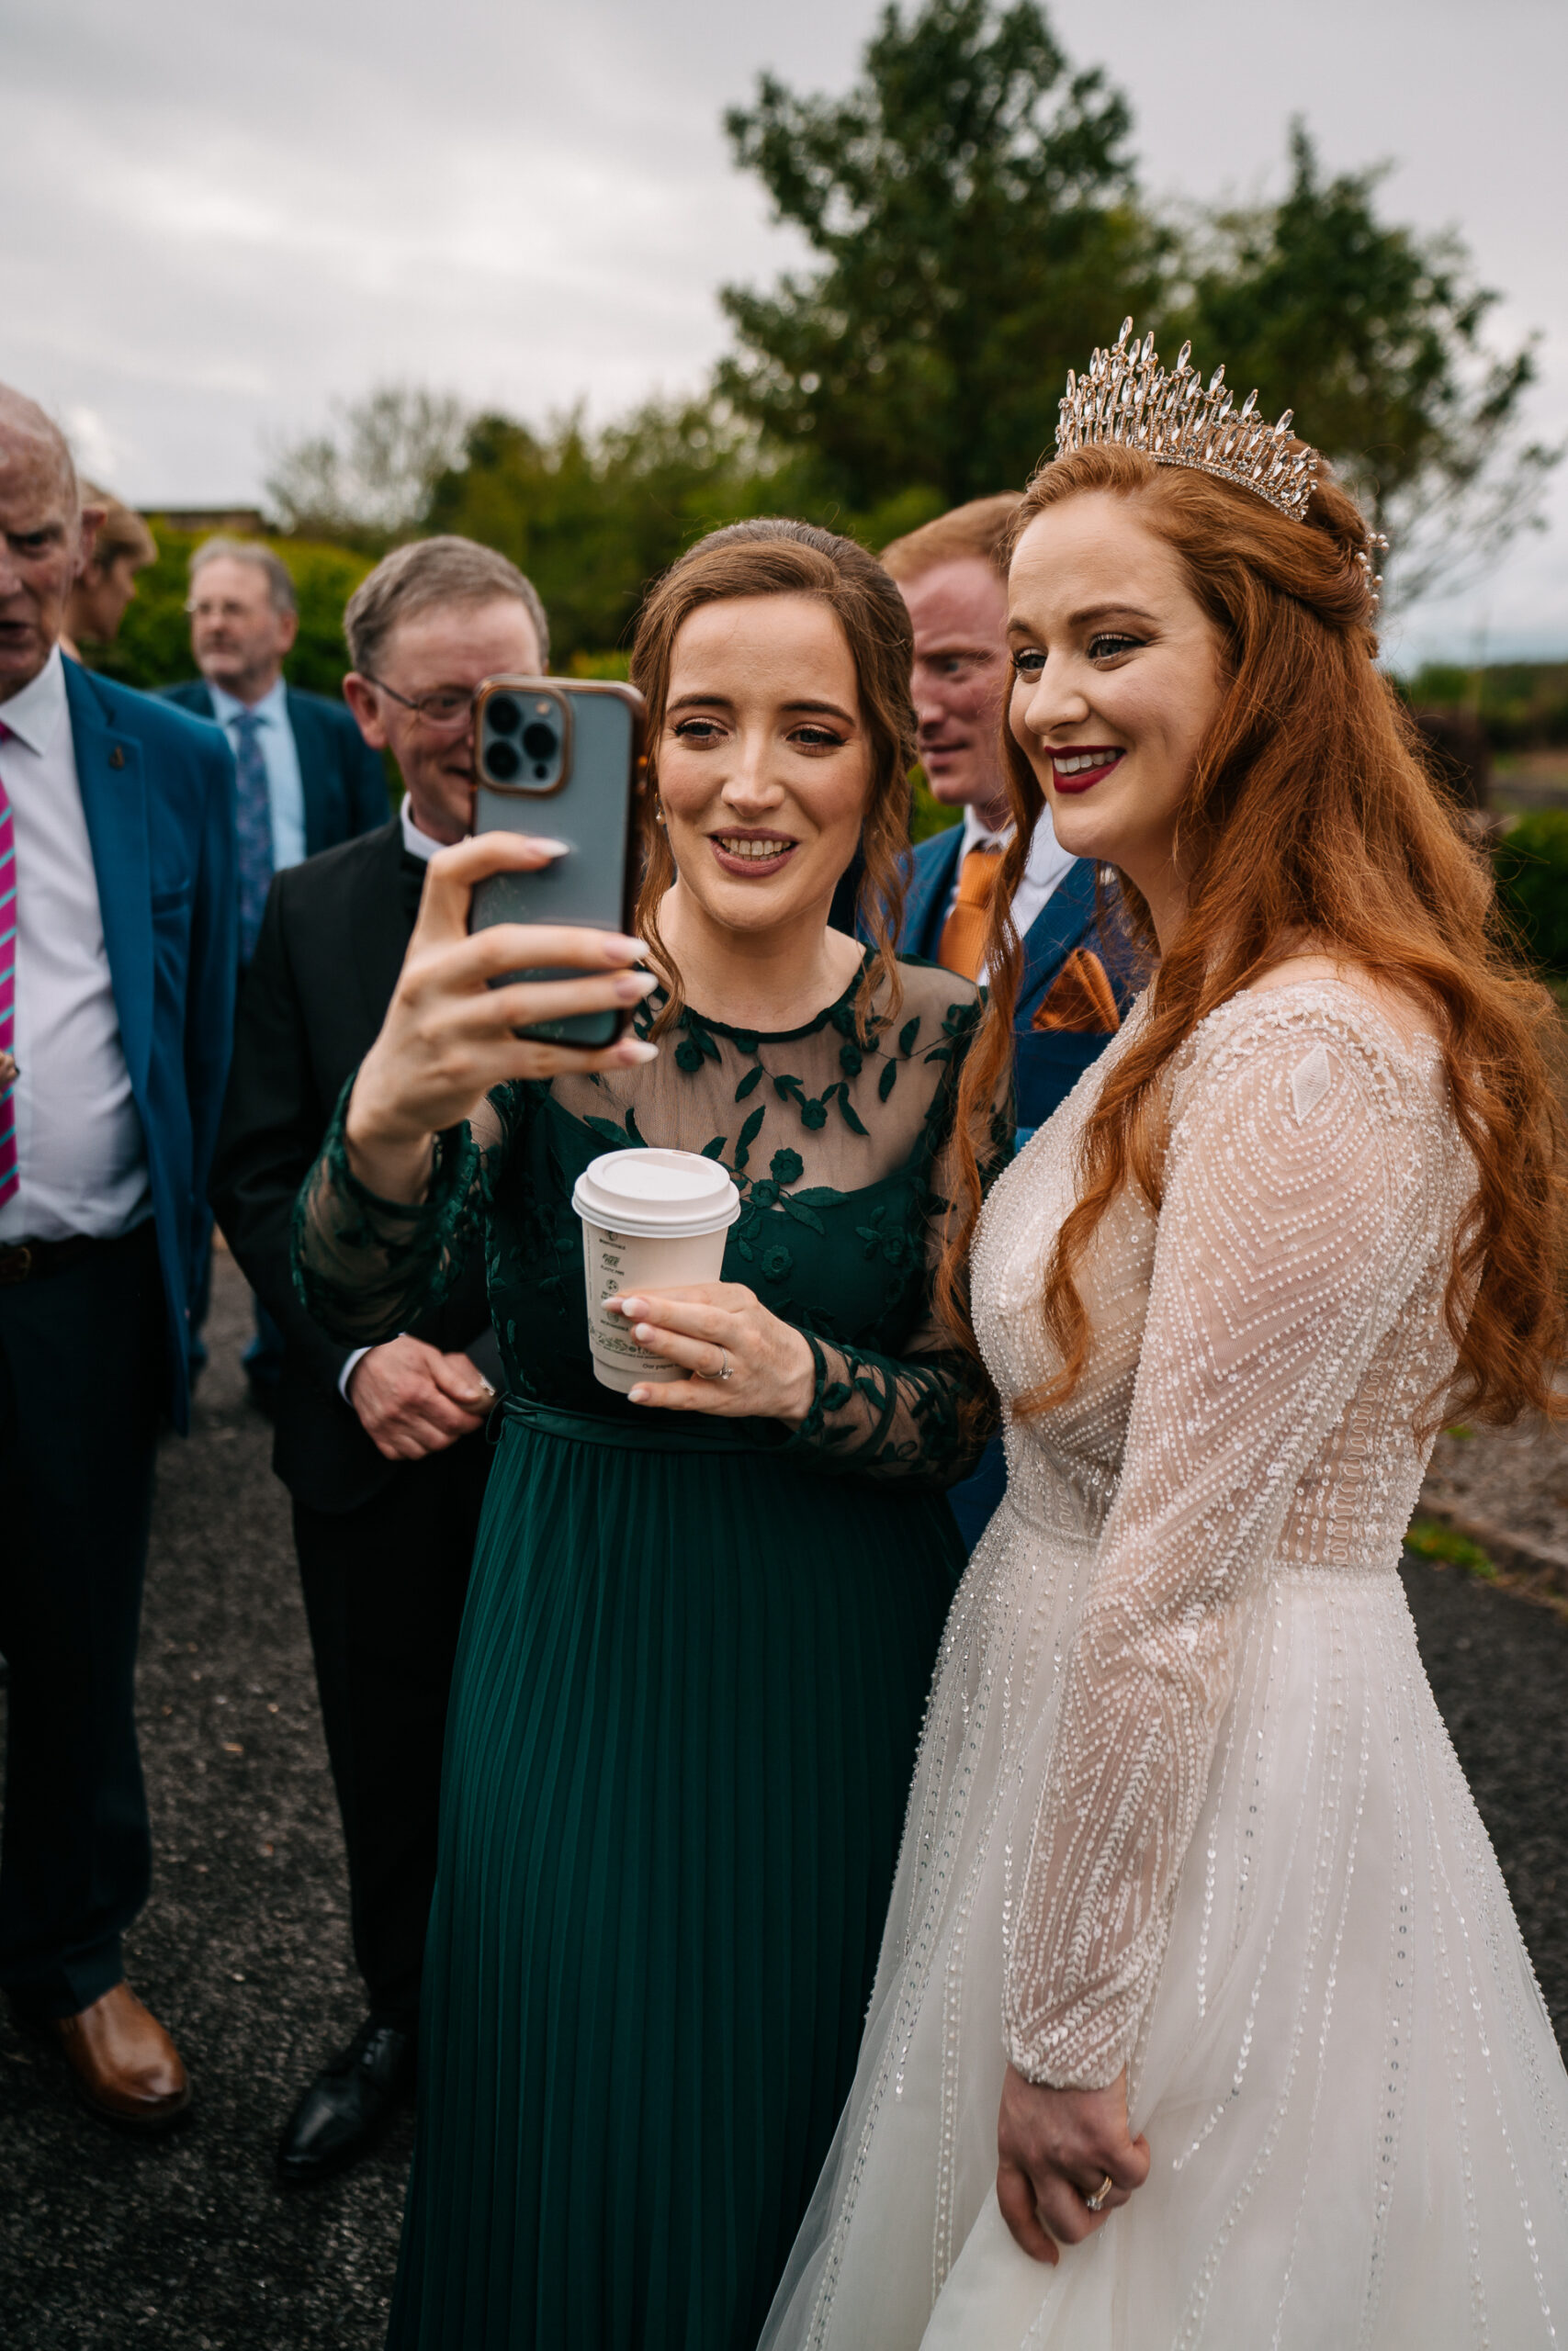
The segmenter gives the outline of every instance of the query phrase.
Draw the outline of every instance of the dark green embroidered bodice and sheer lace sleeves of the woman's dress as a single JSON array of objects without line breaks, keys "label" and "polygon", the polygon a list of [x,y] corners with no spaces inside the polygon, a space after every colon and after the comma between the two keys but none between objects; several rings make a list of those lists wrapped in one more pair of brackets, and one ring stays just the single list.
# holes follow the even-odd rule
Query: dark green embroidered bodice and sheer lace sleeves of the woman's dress
[{"label": "dark green embroidered bodice and sheer lace sleeves of the woman's dress", "polygon": [[[374,1199],[350,1173],[341,1110],[296,1211],[306,1305],[350,1345],[400,1331],[487,1251],[512,1394],[595,1415],[637,1406],[592,1380],[571,1185],[599,1152],[668,1145],[719,1159],[741,1190],[724,1279],[804,1331],[806,1422],[757,1422],[818,1467],[950,1483],[985,1432],[985,1382],[931,1310],[947,1218],[957,1079],[980,1018],[966,980],[900,964],[903,1004],[856,1025],[856,987],[785,1034],[686,1006],[658,1063],[498,1086],[440,1138],[425,1201]],[[658,1009],[639,1009],[646,1034]],[[997,1105],[983,1178],[1011,1154]],[[646,1413],[639,1415],[646,1422]],[[691,1422],[684,1422],[691,1429]]]}]

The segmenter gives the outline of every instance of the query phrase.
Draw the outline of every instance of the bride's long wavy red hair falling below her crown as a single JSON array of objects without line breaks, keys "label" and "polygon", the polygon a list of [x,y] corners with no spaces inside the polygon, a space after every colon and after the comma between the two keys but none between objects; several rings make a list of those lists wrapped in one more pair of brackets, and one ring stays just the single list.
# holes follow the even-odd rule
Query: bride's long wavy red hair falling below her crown
[{"label": "bride's long wavy red hair falling below her crown", "polygon": [[[1013,1411],[1030,1418],[1077,1387],[1088,1317],[1074,1267],[1128,1176],[1159,1208],[1166,1063],[1218,1004],[1302,945],[1425,1006],[1476,1159],[1474,1213],[1455,1237],[1443,1302],[1458,1380],[1427,1399],[1422,1425],[1448,1408],[1495,1422],[1526,1406],[1561,1411],[1552,1394],[1568,1335],[1556,1013],[1521,969],[1486,851],[1432,783],[1415,729],[1375,668],[1366,522],[1331,480],[1319,482],[1302,524],[1192,468],[1091,447],[1041,468],[1013,545],[1037,515],[1079,491],[1138,498],[1140,520],[1178,552],[1220,637],[1222,696],[1178,811],[1187,915],[1159,959],[1147,1020],[1086,1121],[1077,1204],[1046,1272],[1041,1312],[1063,1368]],[[969,1138],[1013,1051],[1023,955],[1006,910],[1044,806],[1006,715],[1001,741],[1016,832],[992,900],[990,1004],[959,1096],[964,1230],[940,1284],[950,1319],[961,1312],[959,1260],[980,1204]],[[1152,957],[1150,907],[1126,877],[1121,905]]]}]

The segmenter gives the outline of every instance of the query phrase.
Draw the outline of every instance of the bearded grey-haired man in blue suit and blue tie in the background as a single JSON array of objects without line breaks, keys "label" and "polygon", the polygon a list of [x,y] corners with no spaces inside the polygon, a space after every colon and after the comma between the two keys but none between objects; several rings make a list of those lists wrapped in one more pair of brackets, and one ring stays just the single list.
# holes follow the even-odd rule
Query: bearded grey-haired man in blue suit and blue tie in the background
[{"label": "bearded grey-haired man in blue suit and blue tie in the background", "polygon": [[[165,701],[216,719],[235,755],[240,842],[240,971],[256,952],[268,884],[284,865],[386,825],[386,771],[348,710],[287,686],[282,665],[299,635],[289,567],[254,538],[205,538],[190,557],[190,651],[202,672],[165,686]],[[205,1364],[207,1258],[190,1310],[193,1354]],[[263,1413],[277,1406],[282,1338],[266,1307],[244,1349],[244,1378]]]}]

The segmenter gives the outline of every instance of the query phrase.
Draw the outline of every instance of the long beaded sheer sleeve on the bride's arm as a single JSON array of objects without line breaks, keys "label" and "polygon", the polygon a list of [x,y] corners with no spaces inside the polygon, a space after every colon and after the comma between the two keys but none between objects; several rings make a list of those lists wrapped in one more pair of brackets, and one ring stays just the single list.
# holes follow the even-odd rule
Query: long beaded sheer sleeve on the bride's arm
[{"label": "long beaded sheer sleeve on the bride's arm", "polygon": [[1342,985],[1265,992],[1175,1077],[1121,1481],[1009,1904],[1004,2029],[1030,2081],[1105,2088],[1135,2048],[1244,1610],[1441,1246],[1382,1034]]}]

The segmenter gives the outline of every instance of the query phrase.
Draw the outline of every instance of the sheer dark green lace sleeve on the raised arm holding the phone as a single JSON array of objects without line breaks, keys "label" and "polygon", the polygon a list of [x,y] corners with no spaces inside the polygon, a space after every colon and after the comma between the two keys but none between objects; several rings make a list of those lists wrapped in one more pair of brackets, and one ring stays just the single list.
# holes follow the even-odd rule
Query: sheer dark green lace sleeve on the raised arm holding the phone
[{"label": "sheer dark green lace sleeve on the raised arm holding the phone", "polygon": [[294,1204],[294,1288],[310,1319],[343,1347],[376,1347],[440,1307],[468,1251],[482,1246],[487,1168],[503,1157],[524,1089],[496,1089],[473,1126],[435,1138],[418,1201],[378,1199],[348,1166],[350,1091],[353,1077]]}]

